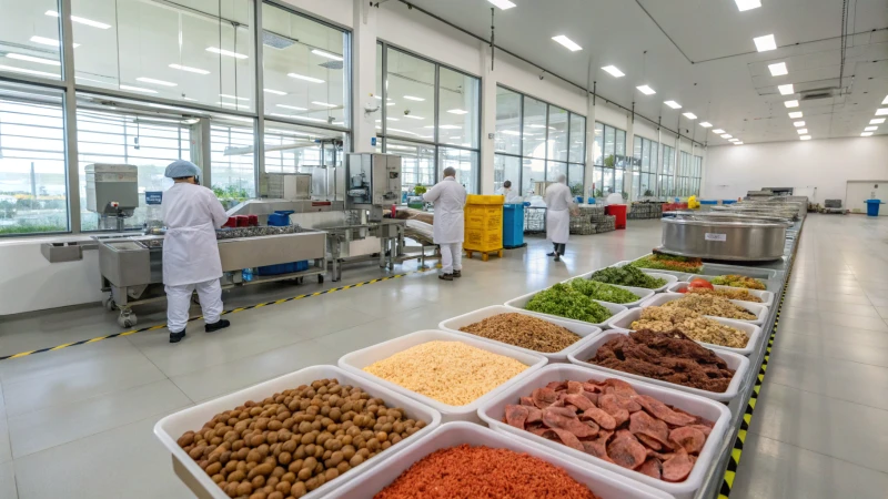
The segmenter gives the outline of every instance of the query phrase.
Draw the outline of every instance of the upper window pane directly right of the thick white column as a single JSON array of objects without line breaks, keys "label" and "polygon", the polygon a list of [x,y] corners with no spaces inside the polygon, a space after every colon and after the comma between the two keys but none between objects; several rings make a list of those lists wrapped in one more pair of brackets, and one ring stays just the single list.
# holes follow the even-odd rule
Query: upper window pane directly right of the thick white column
[{"label": "upper window pane directly right of the thick white column", "polygon": [[435,138],[435,64],[387,49],[389,113],[385,133],[407,139]]}]

